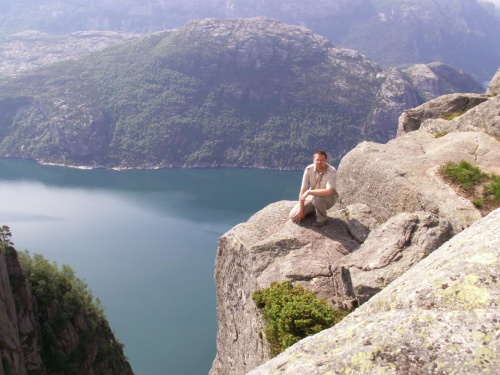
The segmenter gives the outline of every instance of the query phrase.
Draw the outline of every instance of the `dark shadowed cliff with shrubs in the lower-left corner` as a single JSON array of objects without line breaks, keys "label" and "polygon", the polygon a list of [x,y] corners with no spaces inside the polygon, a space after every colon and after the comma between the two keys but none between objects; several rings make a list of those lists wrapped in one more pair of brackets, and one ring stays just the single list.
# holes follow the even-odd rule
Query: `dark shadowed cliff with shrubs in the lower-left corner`
[{"label": "dark shadowed cliff with shrubs in the lower-left corner", "polygon": [[[0,375],[133,375],[104,315],[80,302],[77,293],[85,293],[86,285],[54,278],[57,266],[41,257],[37,262],[43,275],[34,286],[16,250],[0,241]],[[83,298],[92,296],[87,291]]]}]

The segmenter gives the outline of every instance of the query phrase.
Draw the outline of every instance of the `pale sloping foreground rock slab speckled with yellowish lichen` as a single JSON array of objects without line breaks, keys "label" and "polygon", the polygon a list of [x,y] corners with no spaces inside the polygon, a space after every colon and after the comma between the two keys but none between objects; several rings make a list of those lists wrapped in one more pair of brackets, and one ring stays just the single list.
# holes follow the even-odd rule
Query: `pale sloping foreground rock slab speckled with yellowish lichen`
[{"label": "pale sloping foreground rock slab speckled with yellowish lichen", "polygon": [[249,372],[496,374],[500,209],[471,225],[331,329]]}]

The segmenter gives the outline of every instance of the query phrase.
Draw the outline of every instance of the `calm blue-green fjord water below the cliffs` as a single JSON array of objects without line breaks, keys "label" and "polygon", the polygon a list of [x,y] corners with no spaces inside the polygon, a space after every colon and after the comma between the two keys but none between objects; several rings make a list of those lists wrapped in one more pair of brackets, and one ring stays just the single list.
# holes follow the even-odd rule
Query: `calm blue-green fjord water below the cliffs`
[{"label": "calm blue-green fjord water below the cliffs", "polygon": [[0,225],[18,250],[85,279],[136,375],[207,374],[216,353],[218,238],[301,172],[109,171],[0,160]]}]

